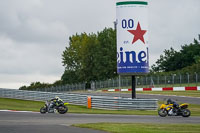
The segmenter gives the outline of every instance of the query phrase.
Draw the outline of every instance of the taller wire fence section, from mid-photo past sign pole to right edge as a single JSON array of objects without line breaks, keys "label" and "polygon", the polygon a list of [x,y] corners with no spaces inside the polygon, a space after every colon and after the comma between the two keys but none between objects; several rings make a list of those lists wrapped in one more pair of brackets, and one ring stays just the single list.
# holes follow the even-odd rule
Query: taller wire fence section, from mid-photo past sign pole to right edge
[{"label": "taller wire fence section, from mid-photo past sign pole to right edge", "polygon": [[[131,76],[121,76],[105,81],[91,82],[92,90],[105,88],[129,88],[132,84]],[[182,87],[200,85],[200,74],[170,74],[170,75],[146,75],[136,76],[137,88],[149,87]]]}]

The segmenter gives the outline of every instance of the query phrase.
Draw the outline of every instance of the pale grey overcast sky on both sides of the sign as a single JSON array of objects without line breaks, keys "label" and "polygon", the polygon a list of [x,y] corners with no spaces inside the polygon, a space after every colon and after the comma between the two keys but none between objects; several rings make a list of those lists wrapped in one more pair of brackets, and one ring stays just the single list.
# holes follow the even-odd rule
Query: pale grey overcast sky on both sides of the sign
[{"label": "pale grey overcast sky on both sides of the sign", "polygon": [[[200,1],[148,2],[153,64],[164,49],[179,50],[198,37]],[[0,0],[0,88],[59,80],[69,36],[114,27],[115,4],[116,0]]]}]

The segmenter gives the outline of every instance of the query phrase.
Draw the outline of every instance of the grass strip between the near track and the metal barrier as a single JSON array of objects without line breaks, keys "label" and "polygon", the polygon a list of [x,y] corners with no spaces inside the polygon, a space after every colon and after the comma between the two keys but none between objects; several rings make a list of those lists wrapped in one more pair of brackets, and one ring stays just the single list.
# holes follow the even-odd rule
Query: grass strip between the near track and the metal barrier
[{"label": "grass strip between the near track and the metal barrier", "polygon": [[[162,104],[163,102],[159,102]],[[0,98],[0,109],[36,111],[39,112],[44,102],[18,100],[9,98]],[[103,110],[103,109],[88,109],[86,106],[68,105],[69,113],[86,113],[86,114],[121,114],[121,115],[157,115],[156,110]],[[200,116],[200,105],[189,105],[192,116]]]}]

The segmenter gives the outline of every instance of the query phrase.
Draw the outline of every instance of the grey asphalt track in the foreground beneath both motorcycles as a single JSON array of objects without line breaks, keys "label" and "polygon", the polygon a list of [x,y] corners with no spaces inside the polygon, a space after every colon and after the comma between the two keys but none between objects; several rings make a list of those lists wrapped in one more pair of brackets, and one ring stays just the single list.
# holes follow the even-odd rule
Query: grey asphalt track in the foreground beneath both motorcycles
[{"label": "grey asphalt track in the foreground beneath both motorcycles", "polygon": [[200,117],[159,117],[105,114],[40,114],[38,112],[0,112],[0,133],[105,133],[72,127],[77,123],[200,123]]}]

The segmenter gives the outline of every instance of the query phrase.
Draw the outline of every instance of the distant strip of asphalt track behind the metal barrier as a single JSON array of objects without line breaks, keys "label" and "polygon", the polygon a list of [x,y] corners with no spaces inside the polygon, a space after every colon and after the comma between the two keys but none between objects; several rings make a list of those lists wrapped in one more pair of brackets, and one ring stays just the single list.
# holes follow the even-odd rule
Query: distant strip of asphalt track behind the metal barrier
[{"label": "distant strip of asphalt track behind the metal barrier", "polygon": [[[91,92],[91,93],[81,93],[91,96],[109,96],[109,97],[124,97],[131,98],[130,93],[101,93],[101,92]],[[144,98],[144,99],[158,99],[160,101],[167,101],[167,99],[171,98],[172,100],[177,101],[178,103],[190,103],[190,104],[200,104],[199,97],[186,97],[186,96],[174,96],[174,95],[155,95],[155,94],[137,94],[136,98]]]}]

